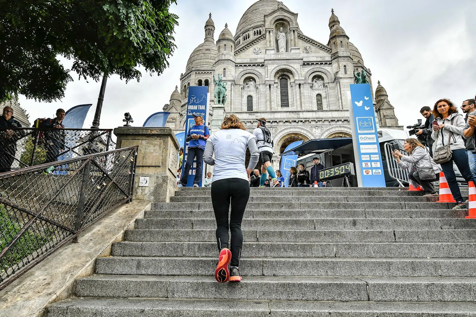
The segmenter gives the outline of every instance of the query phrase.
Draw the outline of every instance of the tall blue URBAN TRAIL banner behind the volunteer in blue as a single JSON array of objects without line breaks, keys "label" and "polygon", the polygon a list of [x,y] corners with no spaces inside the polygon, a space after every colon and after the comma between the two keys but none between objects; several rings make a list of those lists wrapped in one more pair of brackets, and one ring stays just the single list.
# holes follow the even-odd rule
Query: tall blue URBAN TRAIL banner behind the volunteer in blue
[{"label": "tall blue URBAN TRAIL banner behind the volunteer in blue", "polygon": [[[185,120],[185,135],[187,135],[188,130],[192,125],[195,124],[193,114],[199,114],[203,116],[204,125],[207,125],[207,114],[208,114],[208,86],[190,86],[188,87],[188,102],[187,102],[187,118]],[[184,159],[182,162],[182,174],[185,170],[185,162],[187,161],[188,153],[188,142],[185,137],[183,140],[183,150],[184,150]],[[193,186],[193,179],[195,177],[195,169],[197,167],[197,161],[193,160],[193,165],[190,168],[188,173],[187,186]],[[202,172],[204,168],[202,165]],[[203,181],[203,174],[200,178],[200,183],[198,186],[201,187]]]}]

